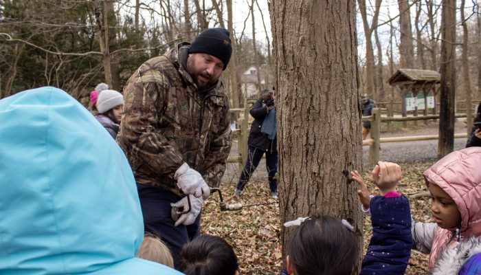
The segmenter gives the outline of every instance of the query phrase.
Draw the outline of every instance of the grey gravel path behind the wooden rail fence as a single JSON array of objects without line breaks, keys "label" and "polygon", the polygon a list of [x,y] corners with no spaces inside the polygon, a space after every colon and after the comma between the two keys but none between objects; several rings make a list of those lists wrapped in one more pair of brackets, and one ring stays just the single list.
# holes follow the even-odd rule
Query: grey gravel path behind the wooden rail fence
[{"label": "grey gravel path behind the wooden rail fence", "polygon": [[[411,129],[396,131],[381,132],[381,137],[400,137],[400,136],[414,136],[414,135],[437,135],[438,124],[430,122],[424,125],[423,122],[418,122],[419,126]],[[460,119],[456,122],[455,133],[465,133],[466,126],[464,120]],[[368,137],[369,138],[369,137]],[[454,150],[465,148],[466,137],[457,138],[454,140]],[[238,155],[237,141],[234,140],[230,155]],[[379,159],[385,162],[425,162],[429,160],[436,160],[438,155],[438,140],[425,140],[416,142],[389,142],[381,143],[381,151],[379,151]],[[363,146],[363,164],[370,167],[368,164],[369,146]],[[223,184],[236,184],[239,175],[237,172],[238,164],[227,164],[227,170],[222,179]],[[265,159],[260,161],[260,164],[254,175],[251,178],[267,181],[267,171],[265,166]],[[268,188],[268,187],[266,187]]]}]

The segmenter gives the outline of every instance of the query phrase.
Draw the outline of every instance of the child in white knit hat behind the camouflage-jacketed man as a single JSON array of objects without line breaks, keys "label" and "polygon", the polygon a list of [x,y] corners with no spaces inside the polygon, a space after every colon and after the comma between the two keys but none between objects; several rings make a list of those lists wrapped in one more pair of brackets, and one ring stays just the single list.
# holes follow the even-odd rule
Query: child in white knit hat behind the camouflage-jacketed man
[{"label": "child in white knit hat behind the camouflage-jacketed man", "polygon": [[98,95],[96,102],[97,110],[100,114],[96,115],[96,119],[115,140],[120,128],[120,120],[122,120],[122,111],[124,109],[124,96],[118,91],[103,90]]}]

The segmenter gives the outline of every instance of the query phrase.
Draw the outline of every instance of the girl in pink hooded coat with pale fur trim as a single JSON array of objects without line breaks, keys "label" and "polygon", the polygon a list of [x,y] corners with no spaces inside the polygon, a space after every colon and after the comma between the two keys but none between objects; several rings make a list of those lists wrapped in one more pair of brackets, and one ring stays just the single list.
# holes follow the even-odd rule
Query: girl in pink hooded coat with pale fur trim
[{"label": "girl in pink hooded coat with pale fur trim", "polygon": [[412,225],[432,274],[481,274],[481,147],[454,151],[423,173],[436,223]]}]

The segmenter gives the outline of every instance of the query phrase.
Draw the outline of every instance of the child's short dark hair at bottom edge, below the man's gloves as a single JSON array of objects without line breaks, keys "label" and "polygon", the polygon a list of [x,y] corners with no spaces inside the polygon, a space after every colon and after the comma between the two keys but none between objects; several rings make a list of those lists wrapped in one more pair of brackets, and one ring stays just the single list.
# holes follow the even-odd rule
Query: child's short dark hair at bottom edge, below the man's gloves
[{"label": "child's short dark hair at bottom edge, below the man's gloves", "polygon": [[234,275],[237,256],[221,237],[203,234],[183,247],[179,270],[186,275]]}]

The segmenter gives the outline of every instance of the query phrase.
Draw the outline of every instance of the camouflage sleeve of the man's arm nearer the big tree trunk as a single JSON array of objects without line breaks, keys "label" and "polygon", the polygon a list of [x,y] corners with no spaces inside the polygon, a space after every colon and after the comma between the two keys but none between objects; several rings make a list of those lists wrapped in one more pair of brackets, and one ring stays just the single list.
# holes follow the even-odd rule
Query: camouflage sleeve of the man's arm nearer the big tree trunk
[{"label": "camouflage sleeve of the man's arm nearer the big tree trunk", "polygon": [[229,157],[232,137],[230,130],[229,100],[225,99],[223,112],[220,114],[219,131],[212,137],[210,150],[205,156],[203,178],[210,187],[219,187],[224,175],[227,157]]}]

